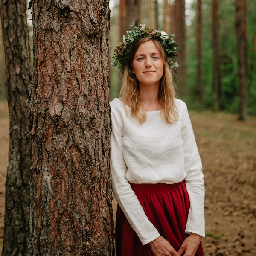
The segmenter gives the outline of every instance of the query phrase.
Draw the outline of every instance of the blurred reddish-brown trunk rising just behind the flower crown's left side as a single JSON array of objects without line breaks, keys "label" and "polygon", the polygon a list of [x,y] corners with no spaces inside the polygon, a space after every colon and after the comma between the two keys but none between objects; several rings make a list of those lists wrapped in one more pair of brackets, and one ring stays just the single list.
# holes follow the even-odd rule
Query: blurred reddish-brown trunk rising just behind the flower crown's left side
[{"label": "blurred reddish-brown trunk rising just behind the flower crown's left side", "polygon": [[131,30],[133,23],[140,22],[140,0],[120,0],[119,3],[119,38],[122,41],[127,30]]}]

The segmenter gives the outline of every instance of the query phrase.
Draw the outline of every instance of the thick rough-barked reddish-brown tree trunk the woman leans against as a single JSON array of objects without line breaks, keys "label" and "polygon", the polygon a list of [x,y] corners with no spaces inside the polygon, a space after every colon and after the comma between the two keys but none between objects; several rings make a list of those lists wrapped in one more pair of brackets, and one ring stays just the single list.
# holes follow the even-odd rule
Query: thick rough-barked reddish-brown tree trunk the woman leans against
[{"label": "thick rough-barked reddish-brown tree trunk the woman leans against", "polygon": [[114,255],[108,5],[31,2],[33,256]]}]

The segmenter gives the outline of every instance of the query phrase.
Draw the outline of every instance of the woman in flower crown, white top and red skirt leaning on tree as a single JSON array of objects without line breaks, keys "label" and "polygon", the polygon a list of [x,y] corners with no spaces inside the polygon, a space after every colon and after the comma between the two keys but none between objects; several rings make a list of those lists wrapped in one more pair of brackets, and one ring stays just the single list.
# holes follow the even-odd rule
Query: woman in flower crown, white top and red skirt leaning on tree
[{"label": "woman in flower crown, white top and red skirt leaning on tree", "polygon": [[203,256],[204,176],[186,105],[175,99],[177,45],[145,25],[127,33],[114,55],[120,98],[110,103],[116,255]]}]

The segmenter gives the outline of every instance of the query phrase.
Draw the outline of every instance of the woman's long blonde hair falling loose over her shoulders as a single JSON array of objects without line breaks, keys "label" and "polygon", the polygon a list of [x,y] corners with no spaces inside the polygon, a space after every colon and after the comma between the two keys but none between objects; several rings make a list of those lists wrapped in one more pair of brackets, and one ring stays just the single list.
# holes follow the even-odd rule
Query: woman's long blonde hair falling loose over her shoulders
[{"label": "woman's long blonde hair falling loose over her shoulders", "polygon": [[129,108],[131,109],[131,116],[138,119],[140,123],[145,122],[147,118],[147,111],[145,110],[143,103],[140,100],[139,81],[137,80],[136,76],[132,73],[132,62],[134,60],[135,52],[140,47],[140,45],[150,40],[154,41],[154,43],[156,44],[160,56],[164,62],[164,72],[159,87],[159,104],[163,108],[161,110],[161,114],[163,115],[167,123],[173,124],[178,119],[178,112],[175,105],[176,92],[172,82],[172,73],[170,65],[167,61],[166,53],[160,41],[153,39],[151,37],[145,37],[141,38],[133,45],[128,58],[128,63],[125,66],[120,97],[122,98],[122,101],[125,105],[126,112],[126,105],[128,105]]}]

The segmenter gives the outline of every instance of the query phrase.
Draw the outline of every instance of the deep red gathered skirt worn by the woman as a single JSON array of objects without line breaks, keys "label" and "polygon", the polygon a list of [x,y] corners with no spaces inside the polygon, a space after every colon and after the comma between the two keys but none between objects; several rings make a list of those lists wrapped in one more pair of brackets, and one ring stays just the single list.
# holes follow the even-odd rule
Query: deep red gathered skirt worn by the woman
[{"label": "deep red gathered skirt worn by the woman", "polygon": [[[175,184],[131,184],[148,219],[172,247],[178,251],[184,239],[189,195],[185,182]],[[141,243],[122,209],[116,212],[116,256],[154,256],[149,244]],[[195,256],[204,256],[200,243]]]}]

